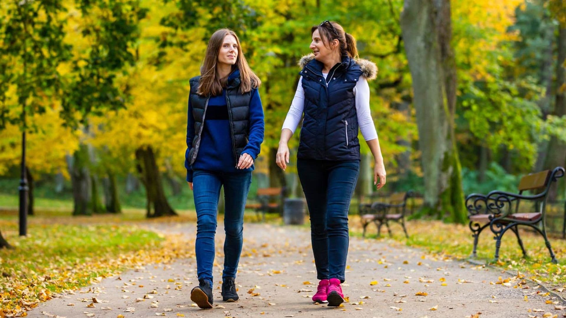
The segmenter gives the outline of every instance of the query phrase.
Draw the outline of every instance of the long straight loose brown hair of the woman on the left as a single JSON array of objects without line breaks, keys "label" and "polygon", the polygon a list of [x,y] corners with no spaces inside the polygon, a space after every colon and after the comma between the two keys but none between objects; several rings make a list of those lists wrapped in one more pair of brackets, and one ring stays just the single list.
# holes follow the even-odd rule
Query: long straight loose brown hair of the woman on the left
[{"label": "long straight loose brown hair of the woman on the left", "polygon": [[246,57],[242,52],[242,46],[240,45],[240,40],[234,31],[230,29],[219,29],[211,36],[208,41],[207,51],[204,55],[203,66],[200,68],[200,82],[198,94],[204,96],[217,96],[222,93],[222,87],[225,87],[227,78],[219,79],[216,76],[216,65],[218,62],[218,53],[220,52],[220,47],[224,42],[224,37],[227,35],[232,35],[236,39],[238,44],[238,57],[236,58],[235,65],[232,66],[232,70],[236,67],[240,71],[240,92],[247,93],[251,91],[252,88],[258,88],[261,84],[258,76],[254,74],[250,66],[246,61]]}]

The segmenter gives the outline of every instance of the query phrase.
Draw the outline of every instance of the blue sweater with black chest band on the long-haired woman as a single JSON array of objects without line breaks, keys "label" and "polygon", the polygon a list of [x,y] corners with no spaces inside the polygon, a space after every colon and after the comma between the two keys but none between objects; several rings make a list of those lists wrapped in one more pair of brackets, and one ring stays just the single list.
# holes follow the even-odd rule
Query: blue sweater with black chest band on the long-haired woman
[{"label": "blue sweater with black chest band on the long-haired woman", "polygon": [[[242,154],[250,154],[255,161],[260,151],[260,145],[263,142],[263,133],[263,106],[261,106],[258,89],[252,89],[250,99],[250,135],[248,144],[242,151]],[[195,118],[192,117],[191,102],[188,102],[187,151],[185,152],[187,182],[192,182],[193,170],[228,173],[254,170],[254,165],[248,169],[238,169],[236,167],[239,158],[234,158],[230,134],[228,105],[226,105],[226,90],[224,89],[222,90],[222,95],[213,96],[208,100],[199,153],[192,166],[189,166],[190,159],[188,158],[188,153],[191,151],[192,139],[195,137]]]}]

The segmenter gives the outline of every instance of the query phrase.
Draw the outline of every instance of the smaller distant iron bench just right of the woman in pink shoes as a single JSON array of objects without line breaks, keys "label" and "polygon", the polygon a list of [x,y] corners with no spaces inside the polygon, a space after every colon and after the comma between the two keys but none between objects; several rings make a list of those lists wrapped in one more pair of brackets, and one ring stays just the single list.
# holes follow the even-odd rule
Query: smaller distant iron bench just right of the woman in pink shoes
[{"label": "smaller distant iron bench just right of the woman in pink shoes", "polygon": [[407,199],[413,196],[413,191],[397,192],[389,196],[389,203],[374,202],[371,204],[360,204],[359,214],[362,220],[362,236],[366,236],[366,227],[370,223],[374,223],[378,228],[378,237],[381,235],[381,226],[385,224],[392,235],[389,228],[389,221],[397,222],[403,227],[405,237],[409,238],[407,229],[405,227],[405,212],[407,206]]}]

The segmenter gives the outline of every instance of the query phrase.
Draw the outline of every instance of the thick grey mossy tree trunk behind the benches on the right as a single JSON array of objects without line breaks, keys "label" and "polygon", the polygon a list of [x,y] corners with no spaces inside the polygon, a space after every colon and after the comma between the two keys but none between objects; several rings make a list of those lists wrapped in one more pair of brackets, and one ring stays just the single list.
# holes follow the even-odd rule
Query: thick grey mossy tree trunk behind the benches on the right
[{"label": "thick grey mossy tree trunk behind the benches on the right", "polygon": [[454,138],[456,70],[449,0],[405,0],[401,29],[413,79],[424,173],[423,212],[464,223],[460,159]]}]

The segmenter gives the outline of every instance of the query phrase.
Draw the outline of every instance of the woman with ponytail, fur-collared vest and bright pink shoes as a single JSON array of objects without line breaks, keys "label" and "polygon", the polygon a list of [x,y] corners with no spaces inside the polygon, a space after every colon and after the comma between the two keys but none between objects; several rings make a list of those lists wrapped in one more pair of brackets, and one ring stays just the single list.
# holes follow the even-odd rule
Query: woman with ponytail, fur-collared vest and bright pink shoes
[{"label": "woman with ponytail, fur-collared vest and bright pink shoes", "polygon": [[[358,58],[353,36],[324,21],[311,29],[312,54],[301,58],[301,79],[283,123],[276,162],[289,163],[288,141],[304,113],[297,171],[311,221],[318,290],[313,302],[344,302],[348,256],[348,209],[359,173],[358,128],[375,158],[374,184],[385,184],[385,167],[370,112],[374,63]],[[379,179],[379,184],[378,184]]]}]

